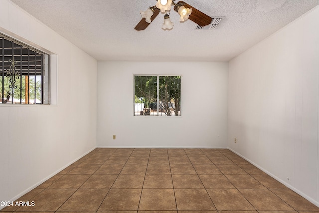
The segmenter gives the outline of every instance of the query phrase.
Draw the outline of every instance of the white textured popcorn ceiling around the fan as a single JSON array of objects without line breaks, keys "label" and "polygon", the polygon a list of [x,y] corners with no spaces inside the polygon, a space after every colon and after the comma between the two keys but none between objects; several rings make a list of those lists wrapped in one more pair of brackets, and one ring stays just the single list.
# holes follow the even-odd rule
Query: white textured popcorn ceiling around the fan
[{"label": "white textured popcorn ceiling around the fan", "polygon": [[[211,17],[214,30],[163,14],[136,31],[140,11],[156,0],[11,0],[97,60],[229,61],[319,4],[319,0],[184,0]],[[179,0],[176,0],[178,2]]]}]

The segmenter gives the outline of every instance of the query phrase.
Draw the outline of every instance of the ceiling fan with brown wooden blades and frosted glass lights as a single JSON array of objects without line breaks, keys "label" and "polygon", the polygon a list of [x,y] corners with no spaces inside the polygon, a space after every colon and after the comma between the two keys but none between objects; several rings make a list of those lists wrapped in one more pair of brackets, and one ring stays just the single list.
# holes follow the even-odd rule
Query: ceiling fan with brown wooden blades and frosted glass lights
[{"label": "ceiling fan with brown wooden blades and frosted glass lights", "polygon": [[172,29],[173,23],[170,21],[170,17],[167,14],[167,11],[171,9],[171,6],[174,5],[174,10],[180,14],[180,21],[183,22],[187,19],[194,21],[199,26],[203,27],[212,22],[212,17],[206,15],[205,13],[199,11],[193,6],[185,3],[184,1],[179,1],[175,3],[175,0],[157,0],[155,6],[148,8],[146,11],[141,11],[142,15],[141,21],[135,26],[134,29],[140,31],[146,29],[149,24],[158,16],[160,12],[165,12],[164,24],[162,28]]}]

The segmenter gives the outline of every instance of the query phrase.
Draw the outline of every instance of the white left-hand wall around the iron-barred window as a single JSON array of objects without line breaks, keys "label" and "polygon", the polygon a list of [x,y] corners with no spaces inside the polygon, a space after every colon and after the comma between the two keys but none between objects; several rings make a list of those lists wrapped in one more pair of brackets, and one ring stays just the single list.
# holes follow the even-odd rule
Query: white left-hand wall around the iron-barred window
[{"label": "white left-hand wall around the iron-barred window", "polygon": [[0,4],[1,32],[58,57],[56,106],[0,105],[0,201],[12,201],[96,147],[97,62],[11,1]]}]

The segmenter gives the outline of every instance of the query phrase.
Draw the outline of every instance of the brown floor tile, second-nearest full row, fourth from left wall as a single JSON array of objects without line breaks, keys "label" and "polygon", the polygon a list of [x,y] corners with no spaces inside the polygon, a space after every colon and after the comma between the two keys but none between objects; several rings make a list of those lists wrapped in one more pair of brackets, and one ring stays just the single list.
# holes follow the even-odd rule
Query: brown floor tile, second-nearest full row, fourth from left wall
[{"label": "brown floor tile, second-nearest full row, fourth from left wall", "polygon": [[120,174],[115,180],[112,188],[137,188],[141,189],[144,181],[144,174]]}]

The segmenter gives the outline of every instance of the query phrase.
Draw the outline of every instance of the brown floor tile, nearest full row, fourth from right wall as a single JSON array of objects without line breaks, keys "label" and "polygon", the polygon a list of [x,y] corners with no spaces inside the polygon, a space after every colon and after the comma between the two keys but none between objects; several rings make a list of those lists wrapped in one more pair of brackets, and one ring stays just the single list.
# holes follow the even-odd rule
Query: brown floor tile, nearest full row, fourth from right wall
[{"label": "brown floor tile, nearest full row, fourth from right wall", "polygon": [[177,210],[216,210],[205,189],[175,189]]}]

